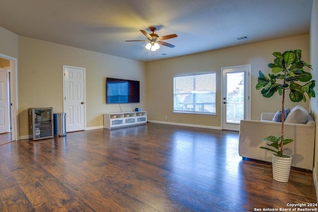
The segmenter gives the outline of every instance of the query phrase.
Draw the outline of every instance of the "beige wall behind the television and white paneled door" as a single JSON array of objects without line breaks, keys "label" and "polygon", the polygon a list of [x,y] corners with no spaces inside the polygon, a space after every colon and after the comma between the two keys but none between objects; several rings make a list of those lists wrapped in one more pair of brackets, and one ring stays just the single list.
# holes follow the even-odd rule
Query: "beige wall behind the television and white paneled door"
[{"label": "beige wall behind the television and white paneled door", "polygon": [[141,81],[141,103],[121,104],[123,111],[146,107],[145,63],[46,41],[18,37],[19,135],[28,135],[27,108],[53,107],[63,112],[63,65],[86,69],[86,127],[103,126],[103,113],[120,111],[107,104],[106,77]]}]

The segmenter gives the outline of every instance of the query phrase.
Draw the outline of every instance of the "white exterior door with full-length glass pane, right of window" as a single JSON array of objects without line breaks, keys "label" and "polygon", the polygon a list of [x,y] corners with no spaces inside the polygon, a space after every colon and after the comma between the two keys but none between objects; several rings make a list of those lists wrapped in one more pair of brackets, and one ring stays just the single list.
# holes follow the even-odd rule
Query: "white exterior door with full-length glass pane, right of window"
[{"label": "white exterior door with full-length glass pane, right of window", "polygon": [[239,131],[250,119],[250,65],[222,68],[222,128]]}]

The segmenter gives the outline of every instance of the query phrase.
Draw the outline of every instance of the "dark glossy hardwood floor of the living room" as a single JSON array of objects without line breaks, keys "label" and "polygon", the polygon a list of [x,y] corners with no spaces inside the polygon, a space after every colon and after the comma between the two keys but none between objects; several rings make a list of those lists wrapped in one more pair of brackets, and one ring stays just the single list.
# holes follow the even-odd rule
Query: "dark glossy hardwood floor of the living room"
[{"label": "dark glossy hardwood floor of the living room", "polygon": [[238,137],[148,123],[0,145],[0,211],[245,212],[317,203],[312,171],[293,168],[288,183],[276,182],[269,163],[239,157]]}]

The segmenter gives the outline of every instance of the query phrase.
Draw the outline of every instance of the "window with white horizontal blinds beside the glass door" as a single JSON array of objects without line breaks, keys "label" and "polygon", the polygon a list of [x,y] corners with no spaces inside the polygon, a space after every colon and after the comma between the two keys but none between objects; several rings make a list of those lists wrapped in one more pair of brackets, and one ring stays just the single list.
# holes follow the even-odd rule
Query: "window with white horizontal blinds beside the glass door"
[{"label": "window with white horizontal blinds beside the glass door", "polygon": [[216,73],[173,77],[173,112],[215,115]]}]

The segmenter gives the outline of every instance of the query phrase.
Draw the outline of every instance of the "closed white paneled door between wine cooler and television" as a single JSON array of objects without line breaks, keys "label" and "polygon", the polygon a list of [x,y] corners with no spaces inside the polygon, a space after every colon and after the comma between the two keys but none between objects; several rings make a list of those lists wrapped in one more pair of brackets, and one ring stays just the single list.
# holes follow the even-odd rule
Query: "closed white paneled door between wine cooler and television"
[{"label": "closed white paneled door between wine cooler and television", "polygon": [[63,66],[66,132],[85,129],[85,69]]}]

